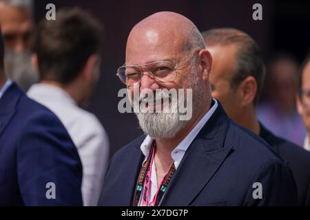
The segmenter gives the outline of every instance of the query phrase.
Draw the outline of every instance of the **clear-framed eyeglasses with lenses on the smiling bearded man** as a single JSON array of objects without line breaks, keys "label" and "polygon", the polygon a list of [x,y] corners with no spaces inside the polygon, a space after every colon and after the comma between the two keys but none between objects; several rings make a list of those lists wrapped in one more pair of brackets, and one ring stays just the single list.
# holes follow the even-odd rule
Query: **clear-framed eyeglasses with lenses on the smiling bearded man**
[{"label": "clear-framed eyeglasses with lenses on the smiling bearded man", "polygon": [[[200,50],[194,52],[188,61],[199,51]],[[142,80],[144,72],[147,72],[152,78],[162,83],[172,83],[178,75],[177,69],[180,68],[168,61],[156,61],[144,65],[123,65],[117,69],[116,76],[118,76],[127,87],[138,85]]]}]

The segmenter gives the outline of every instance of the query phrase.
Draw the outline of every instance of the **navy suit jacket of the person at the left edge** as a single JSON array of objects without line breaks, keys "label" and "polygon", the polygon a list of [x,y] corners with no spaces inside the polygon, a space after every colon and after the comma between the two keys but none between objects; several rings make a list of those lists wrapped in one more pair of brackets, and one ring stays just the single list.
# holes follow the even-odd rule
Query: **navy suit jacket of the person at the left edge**
[{"label": "navy suit jacket of the person at the left edge", "polygon": [[81,181],[63,124],[13,83],[0,99],[0,206],[81,206]]}]

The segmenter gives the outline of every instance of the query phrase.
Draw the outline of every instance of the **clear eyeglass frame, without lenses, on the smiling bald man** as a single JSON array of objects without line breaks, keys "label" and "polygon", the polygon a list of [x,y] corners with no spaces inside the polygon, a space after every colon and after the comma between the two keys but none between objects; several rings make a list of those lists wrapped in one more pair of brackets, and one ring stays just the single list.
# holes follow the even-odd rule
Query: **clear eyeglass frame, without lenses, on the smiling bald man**
[{"label": "clear eyeglass frame, without lenses, on the smiling bald man", "polygon": [[[190,56],[190,58],[187,59],[187,61],[185,61],[185,62],[192,61],[192,58],[194,58],[194,56],[196,56],[201,50],[203,50],[203,49],[195,50],[194,53],[192,53],[192,55]],[[122,65],[121,67],[118,67],[118,69],[117,69],[117,71],[116,71],[116,76],[118,76],[118,78],[121,80],[121,76],[118,74],[119,69],[121,69],[121,68],[123,68],[123,67],[136,67],[136,68],[138,68],[138,69],[140,70],[140,72],[141,72],[140,80],[138,80],[137,83],[134,83],[134,85],[131,85],[131,86],[128,86],[126,83],[123,82],[123,80],[121,80],[121,82],[124,83],[127,87],[135,87],[136,85],[138,85],[139,83],[141,83],[141,80],[142,80],[142,78],[143,78],[144,72],[147,72],[147,73],[149,74],[149,76],[151,76],[154,80],[158,80],[158,81],[161,82],[161,83],[172,83],[174,80],[176,80],[176,78],[178,77],[178,72],[176,72],[176,70],[177,70],[177,69],[180,69],[180,67],[177,67],[176,65],[175,65],[175,67],[173,67],[173,68],[170,70],[170,72],[176,72],[176,76],[175,76],[174,80],[169,81],[169,82],[165,82],[165,81],[159,80],[159,79],[156,78],[156,77],[153,75],[153,73],[152,73],[151,71],[149,71],[149,70],[143,71],[143,70],[141,69],[141,67],[144,67],[144,66],[146,66],[146,65],[156,64],[156,63],[169,63],[169,64],[171,64],[171,65],[173,64],[173,63],[170,63],[170,62],[168,62],[168,61],[154,61],[154,62],[151,62],[151,63],[145,63],[145,64],[141,64],[141,65],[126,65],[126,64],[124,63],[124,65]]]}]

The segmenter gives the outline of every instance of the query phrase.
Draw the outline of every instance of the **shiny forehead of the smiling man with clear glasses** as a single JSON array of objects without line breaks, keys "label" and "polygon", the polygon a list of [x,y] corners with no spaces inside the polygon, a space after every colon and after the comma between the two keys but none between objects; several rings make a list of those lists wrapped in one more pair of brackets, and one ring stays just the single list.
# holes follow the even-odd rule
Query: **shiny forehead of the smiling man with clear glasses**
[{"label": "shiny forehead of the smiling man with clear glasses", "polygon": [[182,54],[184,38],[171,30],[133,30],[126,45],[126,65],[143,65],[176,59]]}]

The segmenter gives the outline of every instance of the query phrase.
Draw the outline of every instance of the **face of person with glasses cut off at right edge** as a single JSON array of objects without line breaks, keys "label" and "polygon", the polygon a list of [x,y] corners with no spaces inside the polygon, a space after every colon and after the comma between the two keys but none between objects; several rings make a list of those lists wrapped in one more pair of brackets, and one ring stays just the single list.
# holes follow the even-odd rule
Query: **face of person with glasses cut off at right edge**
[{"label": "face of person with glasses cut off at right edge", "polygon": [[297,108],[307,129],[307,136],[304,138],[304,148],[310,151],[310,54],[304,59],[300,70]]}]

